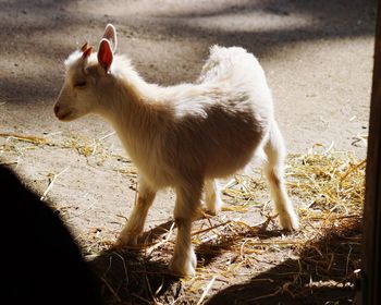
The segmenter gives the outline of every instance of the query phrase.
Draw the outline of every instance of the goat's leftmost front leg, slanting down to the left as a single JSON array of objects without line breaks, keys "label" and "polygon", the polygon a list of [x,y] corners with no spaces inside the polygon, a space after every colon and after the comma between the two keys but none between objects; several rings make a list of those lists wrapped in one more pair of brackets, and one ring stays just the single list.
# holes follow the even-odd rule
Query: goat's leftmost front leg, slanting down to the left
[{"label": "goat's leftmost front leg, slanting down to the left", "polygon": [[143,233],[147,213],[156,196],[153,191],[144,179],[139,179],[137,202],[130,213],[127,224],[123,228],[118,241],[118,246],[136,245],[138,236]]}]

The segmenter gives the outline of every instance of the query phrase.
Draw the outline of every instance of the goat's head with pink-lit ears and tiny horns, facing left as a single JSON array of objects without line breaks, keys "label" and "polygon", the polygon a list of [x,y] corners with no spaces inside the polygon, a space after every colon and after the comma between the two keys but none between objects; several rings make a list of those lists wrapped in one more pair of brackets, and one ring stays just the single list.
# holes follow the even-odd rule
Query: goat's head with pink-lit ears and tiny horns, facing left
[{"label": "goat's head with pink-lit ears and tiny horns, facing left", "polygon": [[59,120],[72,121],[97,110],[100,97],[113,81],[110,68],[115,49],[116,32],[108,24],[97,54],[86,42],[65,60],[65,81],[54,105]]}]

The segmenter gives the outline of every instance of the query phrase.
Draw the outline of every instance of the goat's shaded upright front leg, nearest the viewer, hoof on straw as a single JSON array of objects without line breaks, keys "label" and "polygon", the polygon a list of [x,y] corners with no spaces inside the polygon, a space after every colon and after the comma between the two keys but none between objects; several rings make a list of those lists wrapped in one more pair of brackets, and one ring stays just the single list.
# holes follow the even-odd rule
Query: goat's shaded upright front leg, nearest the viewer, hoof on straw
[{"label": "goat's shaded upright front leg, nearest the viewer, hoof on straw", "polygon": [[188,190],[181,187],[176,190],[174,221],[177,227],[177,237],[170,270],[182,277],[192,277],[196,272],[197,258],[192,246],[190,227],[200,205],[201,190],[201,183]]}]

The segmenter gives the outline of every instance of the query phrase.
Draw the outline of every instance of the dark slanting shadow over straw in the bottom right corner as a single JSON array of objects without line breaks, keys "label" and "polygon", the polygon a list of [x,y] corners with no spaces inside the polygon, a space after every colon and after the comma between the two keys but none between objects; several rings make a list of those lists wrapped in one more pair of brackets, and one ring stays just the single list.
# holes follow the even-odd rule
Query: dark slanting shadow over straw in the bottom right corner
[{"label": "dark slanting shadow over straw in the bottom right corner", "polygon": [[359,221],[325,230],[300,251],[299,259],[287,259],[248,282],[229,286],[207,304],[353,304],[360,237]]}]

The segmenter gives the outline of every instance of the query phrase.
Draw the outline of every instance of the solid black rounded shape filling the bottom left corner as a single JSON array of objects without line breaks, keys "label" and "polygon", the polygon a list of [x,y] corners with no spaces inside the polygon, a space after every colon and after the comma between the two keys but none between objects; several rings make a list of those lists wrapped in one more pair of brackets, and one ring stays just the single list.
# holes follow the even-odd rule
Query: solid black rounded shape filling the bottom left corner
[{"label": "solid black rounded shape filling the bottom left corner", "polygon": [[100,282],[60,217],[0,167],[1,304],[103,304]]}]

